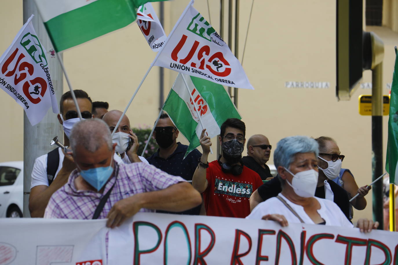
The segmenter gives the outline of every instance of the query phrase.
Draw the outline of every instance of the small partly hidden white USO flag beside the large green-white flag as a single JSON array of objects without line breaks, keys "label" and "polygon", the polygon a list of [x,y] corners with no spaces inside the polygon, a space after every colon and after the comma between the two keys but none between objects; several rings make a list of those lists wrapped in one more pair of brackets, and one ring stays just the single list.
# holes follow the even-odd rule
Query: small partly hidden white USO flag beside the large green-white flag
[{"label": "small partly hidden white USO flag beside the large green-white flag", "polygon": [[138,8],[137,24],[151,49],[157,52],[167,37],[151,3]]}]

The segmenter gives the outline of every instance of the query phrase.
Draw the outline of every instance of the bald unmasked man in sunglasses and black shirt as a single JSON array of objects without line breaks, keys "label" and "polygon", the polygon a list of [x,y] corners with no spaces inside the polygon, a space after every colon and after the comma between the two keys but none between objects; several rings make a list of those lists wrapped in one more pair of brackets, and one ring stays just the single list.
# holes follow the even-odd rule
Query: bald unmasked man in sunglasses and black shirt
[{"label": "bald unmasked man in sunglasses and black shirt", "polygon": [[246,147],[248,155],[242,157],[243,164],[257,172],[261,180],[270,180],[273,178],[271,170],[266,165],[272,148],[268,138],[262,134],[255,134],[249,138]]}]

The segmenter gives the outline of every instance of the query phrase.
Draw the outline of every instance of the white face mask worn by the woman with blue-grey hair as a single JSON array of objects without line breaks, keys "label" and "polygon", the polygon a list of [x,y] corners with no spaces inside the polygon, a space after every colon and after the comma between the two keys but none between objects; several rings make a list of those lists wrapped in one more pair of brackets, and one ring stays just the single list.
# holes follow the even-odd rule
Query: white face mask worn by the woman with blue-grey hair
[{"label": "white face mask worn by the woman with blue-grey hair", "polygon": [[288,180],[286,182],[298,196],[305,198],[314,197],[316,185],[318,184],[318,172],[316,170],[310,169],[293,174],[289,169],[285,169],[293,176],[292,184]]}]

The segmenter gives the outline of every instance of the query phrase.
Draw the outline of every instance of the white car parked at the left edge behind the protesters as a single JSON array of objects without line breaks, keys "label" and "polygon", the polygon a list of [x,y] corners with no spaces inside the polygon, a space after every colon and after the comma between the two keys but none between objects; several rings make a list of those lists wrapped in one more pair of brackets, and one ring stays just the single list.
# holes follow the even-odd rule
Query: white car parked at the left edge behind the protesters
[{"label": "white car parked at the left edge behind the protesters", "polygon": [[23,161],[0,163],[0,217],[22,217]]}]

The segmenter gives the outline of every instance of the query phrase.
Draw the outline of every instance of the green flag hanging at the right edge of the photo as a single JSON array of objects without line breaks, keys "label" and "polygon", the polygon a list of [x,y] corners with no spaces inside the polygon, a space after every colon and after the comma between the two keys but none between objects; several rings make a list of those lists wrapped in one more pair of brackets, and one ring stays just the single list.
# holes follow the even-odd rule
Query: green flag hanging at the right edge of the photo
[{"label": "green flag hanging at the right edge of the photo", "polygon": [[395,57],[391,85],[390,114],[388,115],[386,171],[390,174],[390,183],[398,185],[398,56]]}]

